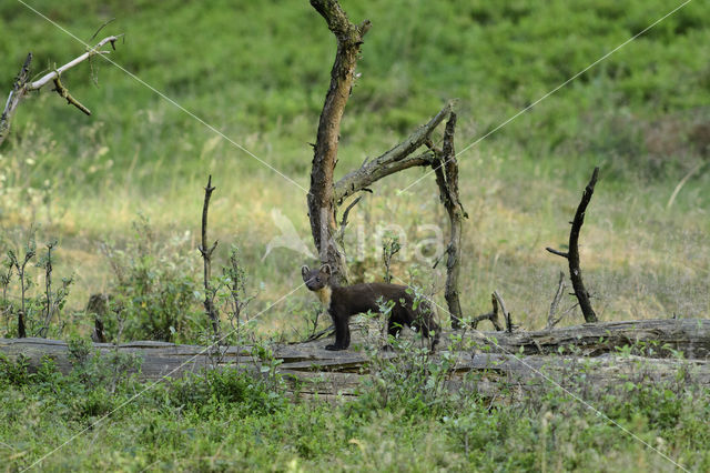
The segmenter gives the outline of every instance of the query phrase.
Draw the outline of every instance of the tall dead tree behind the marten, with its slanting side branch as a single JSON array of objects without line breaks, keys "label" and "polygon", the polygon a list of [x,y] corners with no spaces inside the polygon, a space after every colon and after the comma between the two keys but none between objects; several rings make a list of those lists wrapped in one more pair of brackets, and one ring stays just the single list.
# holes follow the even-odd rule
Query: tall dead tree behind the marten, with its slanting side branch
[{"label": "tall dead tree behind the marten, with its slanting side branch", "polygon": [[[413,167],[433,164],[434,152],[413,155],[429,139],[434,129],[449,114],[447,104],[427,124],[383,155],[365,161],[359,169],[335,182],[333,174],[337,162],[341,120],[355,80],[355,67],[363,39],[371,28],[368,20],[354,24],[336,0],[311,0],[313,8],[325,19],[335,36],[337,50],[331,70],[331,84],[325,97],[314,144],[311,170],[311,189],[307,195],[311,232],[320,259],[337,273],[341,281],[347,280],[345,252],[338,239],[337,207],[348,197],[367,190],[379,179]],[[352,208],[352,207],[351,207]]]}]

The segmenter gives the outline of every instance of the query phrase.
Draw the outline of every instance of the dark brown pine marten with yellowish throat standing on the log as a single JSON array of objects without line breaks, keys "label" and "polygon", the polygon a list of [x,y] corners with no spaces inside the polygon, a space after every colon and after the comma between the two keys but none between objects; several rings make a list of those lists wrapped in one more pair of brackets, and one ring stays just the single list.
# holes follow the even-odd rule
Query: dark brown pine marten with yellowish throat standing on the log
[{"label": "dark brown pine marten with yellowish throat standing on the log", "polygon": [[[327,309],[335,325],[335,343],[326,345],[325,350],[346,350],[351,344],[349,318],[367,311],[379,312],[377,301],[381,298],[394,302],[387,322],[387,332],[390,335],[397,336],[402,328],[408,325],[422,331],[422,334],[429,339],[432,351],[438,343],[439,326],[434,322],[434,308],[428,301],[423,300],[414,309],[414,298],[405,285],[373,282],[339,286],[332,281],[328,264],[323,264],[320,270],[303,266],[301,274],[306,286],[316,293],[323,306]],[[430,331],[434,332],[434,336]]]}]

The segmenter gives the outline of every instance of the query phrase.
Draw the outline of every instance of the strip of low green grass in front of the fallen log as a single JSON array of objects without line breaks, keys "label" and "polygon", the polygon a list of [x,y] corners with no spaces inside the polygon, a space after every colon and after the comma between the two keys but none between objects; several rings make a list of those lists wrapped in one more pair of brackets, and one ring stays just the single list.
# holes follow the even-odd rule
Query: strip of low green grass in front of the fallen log
[{"label": "strip of low green grass in front of the fallen log", "polygon": [[10,471],[36,462],[50,471],[671,469],[660,453],[690,471],[710,464],[709,393],[689,376],[605,390],[584,374],[562,381],[605,417],[547,384],[514,404],[505,391],[432,397],[437,382],[403,375],[406,361],[381,362],[359,397],[328,403],[230,370],[141,384],[125,374],[134,365],[125,355],[70,346],[68,374],[0,359],[0,454]]}]

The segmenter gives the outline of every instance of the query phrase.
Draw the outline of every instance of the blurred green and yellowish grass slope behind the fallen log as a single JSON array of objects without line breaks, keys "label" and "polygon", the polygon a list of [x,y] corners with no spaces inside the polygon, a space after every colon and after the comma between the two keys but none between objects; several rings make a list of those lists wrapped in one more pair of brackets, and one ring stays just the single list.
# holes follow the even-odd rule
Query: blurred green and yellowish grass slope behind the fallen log
[{"label": "blurred green and yellowish grass slope behind the fallen log", "polygon": [[[71,0],[31,3],[89,41],[124,32],[111,59],[231,137],[303,187],[308,184],[318,113],[334,39],[307,2]],[[343,122],[337,175],[402,140],[452,98],[458,99],[460,150],[669,12],[662,1],[344,2],[353,21],[368,18],[357,81]],[[582,269],[602,320],[707,316],[710,309],[708,164],[710,69],[703,44],[710,9],[691,2],[638,40],[460,157],[465,225],[462,293],[467,314],[488,311],[501,292],[526,329],[540,328],[565,262],[547,245],[567,240],[581,189],[595,165],[601,181],[582,230]],[[0,7],[3,89],[24,54],[39,71],[83,47],[20,3]],[[75,273],[67,312],[115,282],[99,243],[132,239],[146,215],[156,243],[182,238],[175,258],[199,276],[202,187],[217,190],[211,232],[240,245],[266,309],[300,282],[303,256],[277,249],[262,261],[280,209],[308,241],[305,195],[257,161],[219,139],[119,69],[93,61],[65,74],[70,91],[94,112],[65,107],[49,90],[19,110],[1,152],[0,228],[4,249],[29,227],[38,241],[60,240],[57,274]],[[396,190],[420,177],[409,171],[374,187],[352,214],[366,229],[367,279],[382,278],[377,223],[394,222],[409,239],[418,225],[446,229],[433,179],[405,197]],[[348,238],[353,238],[349,234]],[[308,262],[312,263],[312,262]],[[396,268],[407,279],[412,261]],[[444,274],[423,266],[420,281]],[[41,282],[41,278],[39,279]],[[261,288],[261,289],[260,289]],[[260,316],[264,333],[302,324],[305,291]],[[291,305],[290,305],[291,304]],[[571,304],[571,302],[569,303]],[[199,301],[195,300],[199,308]],[[91,321],[74,315],[79,332]],[[579,314],[564,323],[576,323]]]}]

